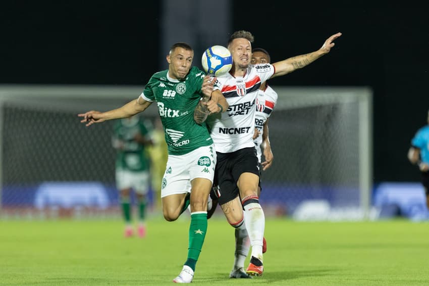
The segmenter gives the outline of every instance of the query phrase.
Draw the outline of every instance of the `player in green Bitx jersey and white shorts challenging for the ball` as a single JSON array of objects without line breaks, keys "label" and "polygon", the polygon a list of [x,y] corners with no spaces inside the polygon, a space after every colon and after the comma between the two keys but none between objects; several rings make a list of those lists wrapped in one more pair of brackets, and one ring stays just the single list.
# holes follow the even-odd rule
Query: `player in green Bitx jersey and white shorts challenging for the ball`
[{"label": "player in green Bitx jersey and white shorts challenging for the ball", "polygon": [[207,231],[207,201],[216,165],[207,126],[197,124],[194,113],[199,109],[197,105],[203,105],[209,113],[228,108],[222,93],[212,94],[215,80],[192,67],[193,57],[187,43],[175,43],[167,55],[169,69],[153,74],[137,99],[118,109],[78,114],[83,117],[81,122],[90,126],[130,117],[156,101],[169,151],[161,190],[164,218],[174,221],[191,205],[188,257],[180,274],[173,279],[176,283],[192,282]]}]

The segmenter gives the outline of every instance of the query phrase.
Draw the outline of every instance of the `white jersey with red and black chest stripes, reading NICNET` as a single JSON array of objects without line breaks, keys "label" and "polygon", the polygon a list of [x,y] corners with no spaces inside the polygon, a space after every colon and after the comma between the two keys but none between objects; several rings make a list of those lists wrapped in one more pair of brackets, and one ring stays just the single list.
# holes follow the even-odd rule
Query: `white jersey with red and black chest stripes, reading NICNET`
[{"label": "white jersey with red and black chest stripes, reading NICNET", "polygon": [[258,64],[249,65],[242,77],[234,77],[230,73],[218,77],[215,89],[222,91],[229,108],[207,119],[217,152],[231,153],[254,147],[256,97],[261,83],[274,72],[273,65]]}]

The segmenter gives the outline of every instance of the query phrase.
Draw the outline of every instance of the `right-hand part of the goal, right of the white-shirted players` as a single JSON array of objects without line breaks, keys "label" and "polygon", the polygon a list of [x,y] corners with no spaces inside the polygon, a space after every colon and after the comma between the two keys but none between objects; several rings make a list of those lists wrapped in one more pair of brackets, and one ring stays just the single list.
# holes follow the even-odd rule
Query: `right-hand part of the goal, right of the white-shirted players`
[{"label": "right-hand part of the goal, right of the white-shirted players", "polygon": [[275,160],[261,202],[297,219],[362,219],[371,193],[371,91],[274,87]]}]

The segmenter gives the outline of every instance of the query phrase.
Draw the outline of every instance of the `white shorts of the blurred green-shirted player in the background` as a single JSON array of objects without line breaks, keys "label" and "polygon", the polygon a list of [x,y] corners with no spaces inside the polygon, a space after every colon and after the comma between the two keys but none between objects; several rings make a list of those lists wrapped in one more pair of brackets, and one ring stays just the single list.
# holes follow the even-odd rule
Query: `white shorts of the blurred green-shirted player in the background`
[{"label": "white shorts of the blurred green-shirted player in the background", "polygon": [[137,194],[146,195],[149,191],[149,182],[149,171],[116,170],[116,187],[119,190],[132,188]]}]

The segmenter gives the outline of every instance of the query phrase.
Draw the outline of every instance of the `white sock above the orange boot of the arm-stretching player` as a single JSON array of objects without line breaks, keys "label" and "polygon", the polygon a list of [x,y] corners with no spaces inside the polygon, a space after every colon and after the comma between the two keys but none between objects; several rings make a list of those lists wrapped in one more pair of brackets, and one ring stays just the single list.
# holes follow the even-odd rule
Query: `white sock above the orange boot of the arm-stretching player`
[{"label": "white sock above the orange boot of the arm-stretching player", "polygon": [[259,203],[252,202],[244,206],[244,217],[252,256],[262,261],[262,240],[265,228],[265,215]]}]

